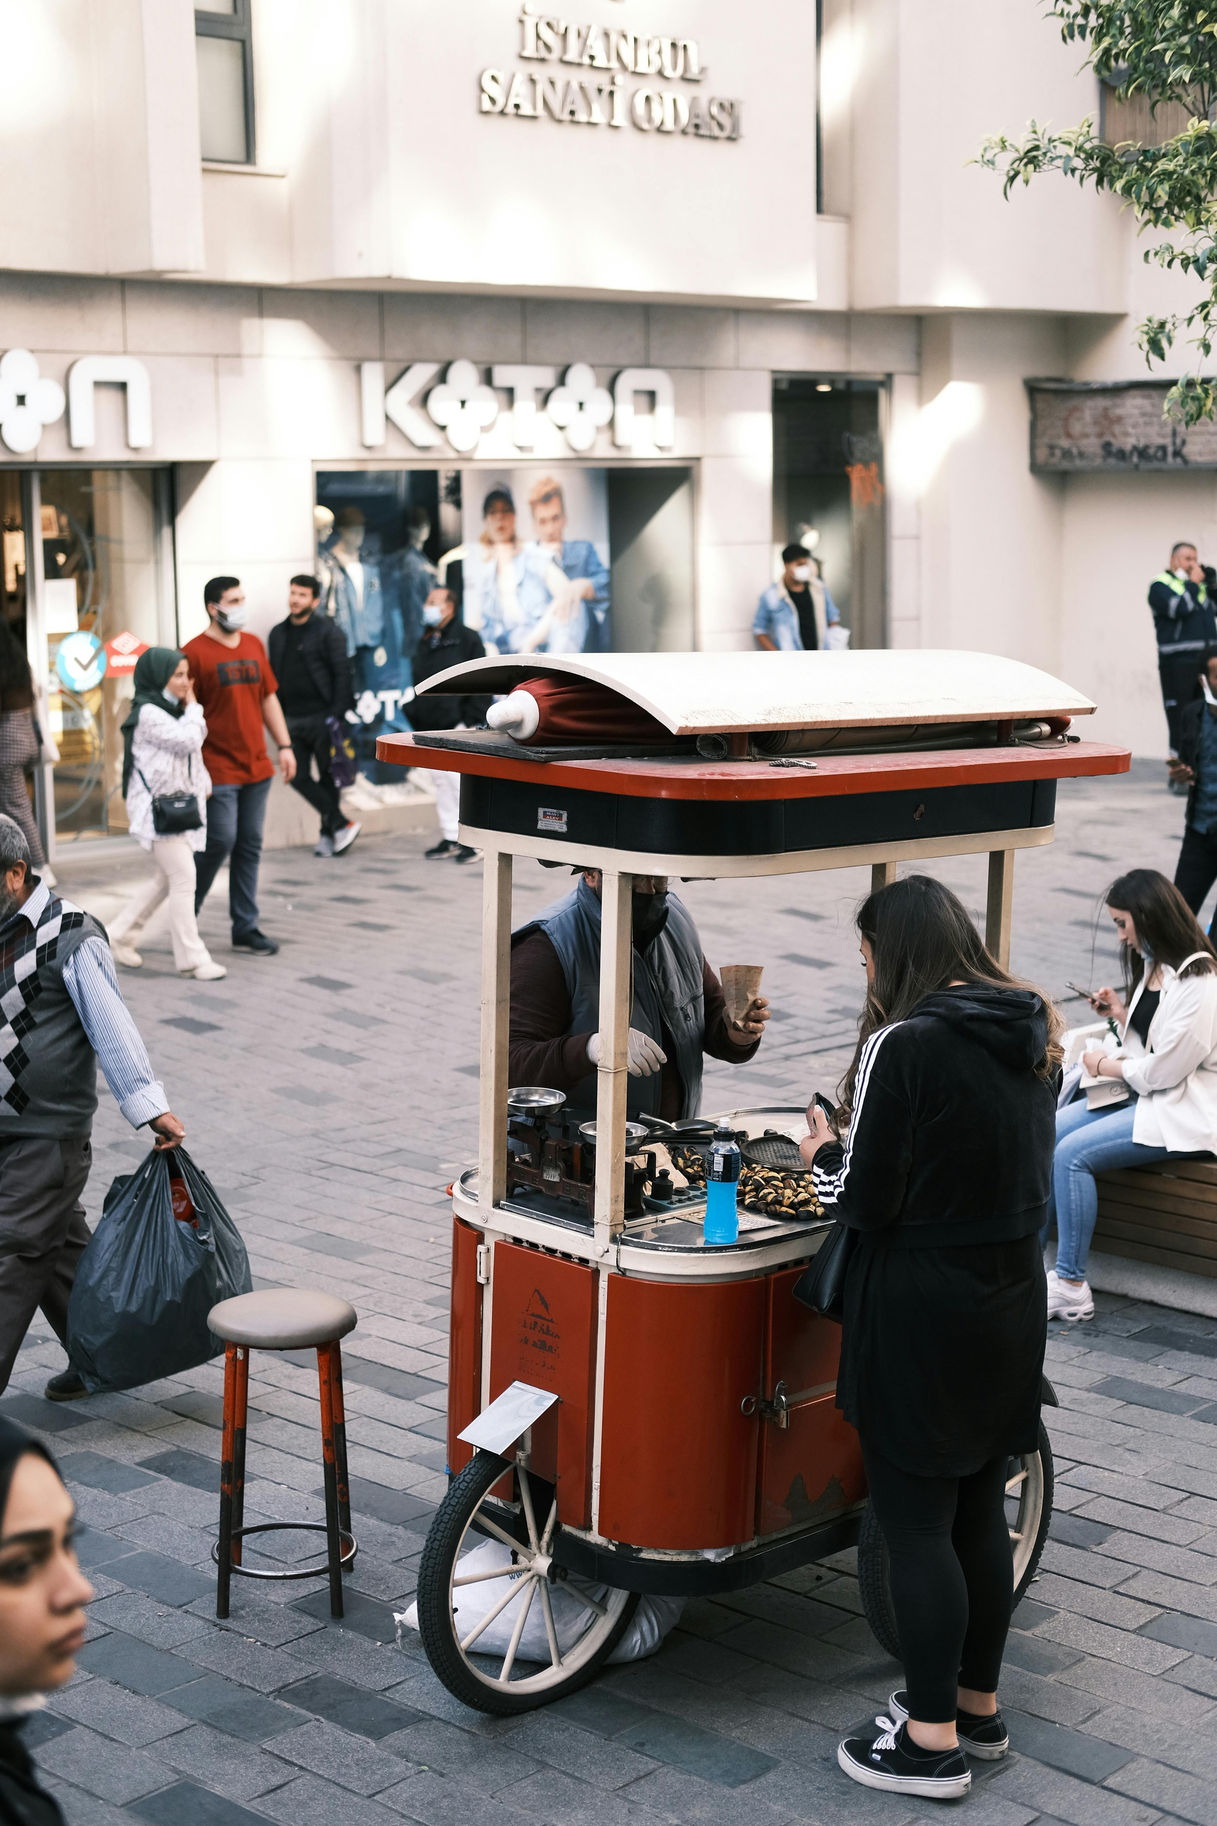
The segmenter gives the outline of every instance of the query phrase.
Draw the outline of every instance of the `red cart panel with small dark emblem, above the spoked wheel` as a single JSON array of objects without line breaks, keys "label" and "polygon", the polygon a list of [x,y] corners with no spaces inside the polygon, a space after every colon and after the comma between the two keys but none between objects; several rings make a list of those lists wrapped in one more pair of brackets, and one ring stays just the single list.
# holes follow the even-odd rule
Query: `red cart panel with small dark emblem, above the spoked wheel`
[{"label": "red cart panel with small dark emblem, above the spoked wheel", "polygon": [[580,1262],[496,1242],[491,1271],[491,1401],[511,1382],[558,1395],[533,1428],[531,1466],[558,1490],[558,1521],[591,1523],[597,1278]]}]

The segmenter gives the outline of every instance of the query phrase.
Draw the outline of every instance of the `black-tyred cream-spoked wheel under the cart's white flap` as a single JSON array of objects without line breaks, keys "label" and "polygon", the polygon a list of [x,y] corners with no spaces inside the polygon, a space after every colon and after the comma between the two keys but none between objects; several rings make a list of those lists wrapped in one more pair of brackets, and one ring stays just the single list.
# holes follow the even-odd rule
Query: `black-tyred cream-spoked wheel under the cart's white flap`
[{"label": "black-tyred cream-spoked wheel under the cart's white flap", "polygon": [[[491,1497],[493,1485],[511,1470],[513,1464],[505,1459],[489,1452],[474,1453],[465,1470],[452,1479],[436,1510],[418,1569],[418,1629],[427,1660],[449,1693],[485,1713],[531,1711],[586,1685],[620,1642],[639,1605],[637,1592],[613,1589],[600,1601],[588,1598],[582,1634],[566,1651],[560,1649],[551,1592],[564,1574],[549,1559],[558,1505],[551,1485],[518,1466],[515,1466],[518,1508]],[[462,1554],[487,1539],[511,1548],[511,1565],[500,1572],[484,1570],[462,1578]],[[454,1592],[462,1585],[491,1581],[500,1587],[494,1592],[494,1605],[462,1640],[452,1609]],[[547,1665],[516,1660],[524,1625],[536,1598],[549,1643]],[[498,1651],[478,1654],[478,1636],[504,1612],[513,1616],[515,1623],[505,1654]]]}]

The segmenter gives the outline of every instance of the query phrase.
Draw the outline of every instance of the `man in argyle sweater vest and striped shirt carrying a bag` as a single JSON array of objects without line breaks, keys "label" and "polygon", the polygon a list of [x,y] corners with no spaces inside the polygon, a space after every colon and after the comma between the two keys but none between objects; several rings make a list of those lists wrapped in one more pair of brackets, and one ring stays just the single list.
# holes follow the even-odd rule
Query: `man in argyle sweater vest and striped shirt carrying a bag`
[{"label": "man in argyle sweater vest and striped shirt carrying a bag", "polygon": [[[97,1066],[133,1128],[177,1147],[184,1128],[151,1076],[119,993],[104,928],[31,875],[22,829],[0,814],[0,1390],[42,1307],[60,1340],[89,1240],[80,1194],[93,1152]],[[68,1368],[51,1401],[84,1382]]]}]

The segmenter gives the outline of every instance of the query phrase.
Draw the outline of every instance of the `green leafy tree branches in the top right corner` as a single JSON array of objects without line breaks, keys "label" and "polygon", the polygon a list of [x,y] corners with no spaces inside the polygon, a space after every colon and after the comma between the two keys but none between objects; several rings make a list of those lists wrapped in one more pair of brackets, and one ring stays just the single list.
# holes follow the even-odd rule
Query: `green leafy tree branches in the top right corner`
[{"label": "green leafy tree branches in the top right corner", "polygon": [[1029,184],[1040,172],[1109,190],[1133,210],[1139,232],[1162,236],[1144,259],[1191,274],[1201,296],[1184,314],[1146,318],[1137,341],[1151,365],[1164,362],[1179,338],[1188,338],[1197,351],[1195,373],[1170,389],[1166,411],[1186,425],[1213,418],[1217,385],[1202,369],[1217,334],[1217,4],[1049,0],[1045,16],[1060,20],[1066,44],[1084,46],[1084,68],[1109,84],[1115,100],[1146,97],[1151,115],[1177,104],[1186,110],[1188,126],[1160,146],[1140,146],[1100,139],[1089,115],[1060,133],[1031,121],[1022,141],[1004,133],[987,139],[978,163],[1004,175],[1007,197],[1014,184]]}]

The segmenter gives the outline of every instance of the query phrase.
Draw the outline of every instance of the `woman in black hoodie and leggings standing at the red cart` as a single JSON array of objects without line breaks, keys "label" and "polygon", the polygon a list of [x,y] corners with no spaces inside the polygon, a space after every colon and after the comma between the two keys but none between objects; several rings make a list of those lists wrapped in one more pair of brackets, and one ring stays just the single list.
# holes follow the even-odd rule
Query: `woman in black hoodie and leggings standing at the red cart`
[{"label": "woman in black hoodie and leggings standing at the red cart", "polygon": [[905,1691],[869,1744],[869,1788],[951,1797],[1004,1755],[1013,1603],[1007,1459],[1035,1452],[1045,1340],[1038,1231],[1053,1170],[1060,1017],[985,951],[925,875],[858,915],[867,1008],[841,1090],[845,1145],[808,1110],[805,1160],[858,1233],[837,1404],[861,1435],[890,1556]]}]

